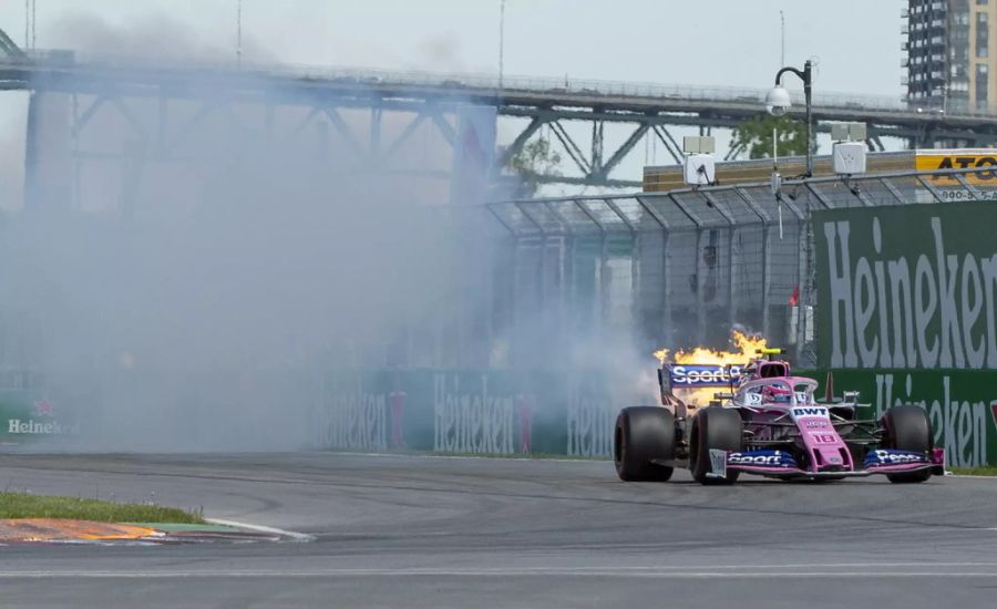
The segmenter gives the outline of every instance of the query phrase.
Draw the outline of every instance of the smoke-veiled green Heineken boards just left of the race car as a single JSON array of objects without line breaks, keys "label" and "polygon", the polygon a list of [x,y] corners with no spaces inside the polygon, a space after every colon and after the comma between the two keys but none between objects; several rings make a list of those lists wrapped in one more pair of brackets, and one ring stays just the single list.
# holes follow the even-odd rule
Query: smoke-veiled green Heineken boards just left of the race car
[{"label": "smoke-veiled green Heineken boards just left of the race car", "polygon": [[335,371],[315,411],[315,445],[604,457],[619,409],[637,400],[618,384],[599,371]]}]

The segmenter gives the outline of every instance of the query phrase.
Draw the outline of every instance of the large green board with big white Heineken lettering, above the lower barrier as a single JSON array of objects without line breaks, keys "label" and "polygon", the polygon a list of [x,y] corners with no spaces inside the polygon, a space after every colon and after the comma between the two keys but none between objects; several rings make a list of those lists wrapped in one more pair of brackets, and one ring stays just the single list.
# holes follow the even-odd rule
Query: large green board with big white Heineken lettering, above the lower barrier
[{"label": "large green board with big white Heineken lettering, above the lower barrier", "polygon": [[997,369],[997,203],[814,215],[819,362]]}]

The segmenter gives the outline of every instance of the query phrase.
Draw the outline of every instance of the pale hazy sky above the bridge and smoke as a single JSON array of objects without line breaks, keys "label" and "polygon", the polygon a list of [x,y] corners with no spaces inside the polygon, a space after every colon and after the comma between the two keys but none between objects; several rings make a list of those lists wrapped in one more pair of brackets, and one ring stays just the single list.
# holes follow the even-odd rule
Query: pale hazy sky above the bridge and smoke
[{"label": "pale hazy sky above the bridge and smoke", "polygon": [[[762,87],[819,58],[825,91],[900,95],[894,0],[506,0],[505,72]],[[185,30],[235,53],[237,0],[37,0],[37,44],[79,42],[81,21]],[[500,0],[243,0],[247,56],[315,65],[496,72]],[[175,28],[179,25],[179,28]],[[0,3],[24,39],[24,3]],[[181,39],[181,43],[185,40]]]}]

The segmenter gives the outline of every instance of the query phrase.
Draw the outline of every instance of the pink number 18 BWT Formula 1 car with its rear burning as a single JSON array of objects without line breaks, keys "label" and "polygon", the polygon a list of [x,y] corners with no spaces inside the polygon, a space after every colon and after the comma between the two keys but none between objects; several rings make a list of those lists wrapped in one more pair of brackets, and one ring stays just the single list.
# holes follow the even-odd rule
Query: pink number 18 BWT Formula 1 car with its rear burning
[{"label": "pink number 18 BWT Formula 1 car with its rear burning", "polygon": [[[658,382],[664,407],[627,407],[617,417],[613,453],[620,479],[664,482],[675,467],[688,467],[702,484],[733,483],[741,473],[781,479],[885,474],[894,483],[945,473],[944,450],[933,447],[923,409],[898,405],[877,421],[859,420],[857,392],[819,403],[816,381],[792,376],[785,361],[664,364]],[[681,396],[709,388],[728,391],[706,406]]]}]

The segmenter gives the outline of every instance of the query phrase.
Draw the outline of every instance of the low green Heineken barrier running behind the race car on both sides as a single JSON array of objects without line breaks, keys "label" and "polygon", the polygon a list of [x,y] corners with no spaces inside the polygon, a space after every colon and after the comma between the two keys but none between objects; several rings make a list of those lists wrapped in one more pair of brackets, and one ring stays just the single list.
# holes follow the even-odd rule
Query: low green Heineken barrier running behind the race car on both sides
[{"label": "low green Heineken barrier running behind the race car on both sides", "polygon": [[[997,371],[798,370],[833,393],[859,391],[859,413],[925,409],[948,464],[997,463]],[[609,375],[557,371],[371,370],[326,375],[315,446],[444,454],[607,457],[619,409],[652,403],[620,392]]]}]

